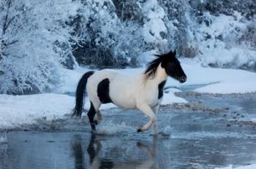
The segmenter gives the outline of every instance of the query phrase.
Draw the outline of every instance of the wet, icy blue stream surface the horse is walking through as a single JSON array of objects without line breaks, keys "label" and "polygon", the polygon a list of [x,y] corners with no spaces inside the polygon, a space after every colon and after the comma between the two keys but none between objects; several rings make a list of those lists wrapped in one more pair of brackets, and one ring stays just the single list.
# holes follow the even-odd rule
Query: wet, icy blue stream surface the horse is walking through
[{"label": "wet, icy blue stream surface the horse is walking through", "polygon": [[[97,134],[87,117],[39,119],[7,134],[0,168],[216,168],[256,163],[256,96],[178,93],[162,106],[159,136],[136,133],[139,111],[103,111]],[[26,131],[21,131],[26,130]]]}]

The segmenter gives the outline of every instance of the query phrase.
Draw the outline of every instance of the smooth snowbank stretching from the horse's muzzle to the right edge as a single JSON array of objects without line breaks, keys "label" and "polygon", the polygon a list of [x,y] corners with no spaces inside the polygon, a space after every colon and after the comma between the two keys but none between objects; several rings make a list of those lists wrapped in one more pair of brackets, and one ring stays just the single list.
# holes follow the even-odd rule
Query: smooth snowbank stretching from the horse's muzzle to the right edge
[{"label": "smooth snowbank stretching from the horse's muzzle to the right edge", "polygon": [[187,84],[208,84],[195,89],[198,93],[252,93],[256,92],[256,74],[227,68],[185,66]]}]

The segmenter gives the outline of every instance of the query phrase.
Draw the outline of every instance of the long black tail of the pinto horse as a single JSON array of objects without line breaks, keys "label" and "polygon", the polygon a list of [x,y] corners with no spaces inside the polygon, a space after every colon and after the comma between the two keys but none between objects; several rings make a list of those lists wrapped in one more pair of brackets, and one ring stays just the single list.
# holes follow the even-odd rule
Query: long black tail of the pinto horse
[{"label": "long black tail of the pinto horse", "polygon": [[88,78],[94,74],[94,71],[88,71],[83,74],[82,78],[78,82],[78,87],[75,93],[75,108],[72,110],[72,117],[81,117],[83,112],[83,103],[86,98],[86,84]]}]

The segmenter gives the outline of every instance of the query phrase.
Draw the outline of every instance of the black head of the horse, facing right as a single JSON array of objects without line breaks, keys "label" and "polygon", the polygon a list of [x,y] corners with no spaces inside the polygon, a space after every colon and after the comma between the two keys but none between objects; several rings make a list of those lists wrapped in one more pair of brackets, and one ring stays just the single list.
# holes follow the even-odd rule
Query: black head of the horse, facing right
[{"label": "black head of the horse, facing right", "polygon": [[170,51],[165,55],[162,55],[162,68],[165,68],[165,72],[168,76],[178,80],[181,83],[186,82],[187,76],[181,68],[181,63],[176,58],[176,50]]}]

